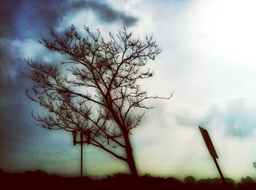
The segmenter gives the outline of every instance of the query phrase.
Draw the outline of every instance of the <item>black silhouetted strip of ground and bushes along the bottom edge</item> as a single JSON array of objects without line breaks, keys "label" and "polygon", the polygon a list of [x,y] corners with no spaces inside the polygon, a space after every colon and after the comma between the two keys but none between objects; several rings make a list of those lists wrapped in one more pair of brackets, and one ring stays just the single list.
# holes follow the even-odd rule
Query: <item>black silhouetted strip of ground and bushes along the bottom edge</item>
[{"label": "black silhouetted strip of ground and bushes along the bottom edge", "polygon": [[125,173],[107,175],[105,178],[61,177],[48,175],[42,170],[24,173],[6,173],[0,170],[0,189],[256,189],[256,183],[250,177],[241,178],[236,183],[227,178],[227,186],[219,178],[196,181],[188,176],[184,181],[176,178],[160,178],[151,175],[133,177]]}]

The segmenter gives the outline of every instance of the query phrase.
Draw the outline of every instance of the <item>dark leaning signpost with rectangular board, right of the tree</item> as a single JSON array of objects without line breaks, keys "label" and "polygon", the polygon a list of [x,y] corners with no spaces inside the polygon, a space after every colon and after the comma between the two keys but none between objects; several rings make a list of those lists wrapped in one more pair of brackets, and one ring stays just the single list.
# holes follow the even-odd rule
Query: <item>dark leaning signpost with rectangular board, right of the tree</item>
[{"label": "dark leaning signpost with rectangular board, right of the tree", "polygon": [[200,126],[198,126],[198,127],[199,127],[199,130],[200,130],[200,132],[201,132],[201,134],[203,136],[203,140],[205,140],[205,143],[206,143],[206,146],[208,148],[208,151],[211,154],[211,157],[214,159],[214,163],[215,163],[215,165],[217,167],[217,170],[219,171],[220,177],[222,178],[222,182],[226,185],[227,183],[226,183],[225,178],[224,178],[224,176],[222,174],[222,170],[220,170],[220,167],[219,167],[218,162],[217,162],[217,159],[219,157],[217,155],[217,152],[214,149],[214,144],[211,142],[211,138],[210,138],[210,136],[208,134],[208,131],[203,129],[203,127],[200,127]]}]

